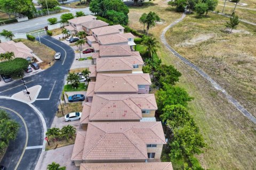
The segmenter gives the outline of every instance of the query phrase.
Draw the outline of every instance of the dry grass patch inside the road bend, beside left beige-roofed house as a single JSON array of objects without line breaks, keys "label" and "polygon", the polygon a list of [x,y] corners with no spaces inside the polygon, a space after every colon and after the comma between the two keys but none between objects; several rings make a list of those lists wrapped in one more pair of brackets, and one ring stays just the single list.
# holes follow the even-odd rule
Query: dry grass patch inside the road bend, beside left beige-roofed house
[{"label": "dry grass patch inside the road bend, beside left beige-roofed house", "polygon": [[15,39],[15,42],[22,42],[26,46],[28,46],[30,49],[33,50],[33,53],[38,56],[43,62],[39,64],[41,69],[47,69],[49,68],[49,62],[51,62],[51,65],[54,64],[54,55],[55,51],[43,44],[40,44],[38,41],[30,41],[27,39]]}]

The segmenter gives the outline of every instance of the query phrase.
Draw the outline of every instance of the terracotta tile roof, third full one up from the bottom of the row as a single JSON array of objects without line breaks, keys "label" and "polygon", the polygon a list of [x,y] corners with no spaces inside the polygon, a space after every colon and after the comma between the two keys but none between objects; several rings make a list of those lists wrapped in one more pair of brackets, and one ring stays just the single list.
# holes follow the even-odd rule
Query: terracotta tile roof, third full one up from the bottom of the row
[{"label": "terracotta tile roof, third full one up from the bottom of the row", "polygon": [[98,74],[94,92],[138,92],[138,85],[150,85],[149,74]]}]

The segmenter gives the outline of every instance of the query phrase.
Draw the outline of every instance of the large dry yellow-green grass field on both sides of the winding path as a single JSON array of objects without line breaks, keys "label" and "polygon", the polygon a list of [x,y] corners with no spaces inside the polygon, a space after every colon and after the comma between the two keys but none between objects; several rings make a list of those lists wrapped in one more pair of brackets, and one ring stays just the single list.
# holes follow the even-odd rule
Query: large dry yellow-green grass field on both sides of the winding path
[{"label": "large dry yellow-green grass field on both sides of the winding path", "polygon": [[[167,6],[167,1],[156,0],[142,8],[130,7],[129,26],[142,31],[140,15],[149,11],[157,12],[163,19],[162,23],[149,30],[150,35],[158,41],[161,41],[162,30],[181,16],[181,13]],[[255,115],[255,77],[252,79],[253,72],[255,75],[255,28],[241,23],[237,28],[243,30],[241,33],[228,35],[222,32],[227,20],[215,14],[203,19],[187,15],[166,33],[166,39],[175,50],[210,74]],[[198,35],[208,39],[199,42],[201,38],[197,38]],[[204,153],[197,156],[202,166],[207,169],[255,168],[256,125],[247,120],[209,81],[182,63],[162,43],[157,53],[164,64],[172,64],[182,73],[178,86],[185,88],[195,98],[188,108],[207,143]],[[221,57],[223,54],[227,57]],[[182,169],[175,164],[173,166],[174,169]]]}]

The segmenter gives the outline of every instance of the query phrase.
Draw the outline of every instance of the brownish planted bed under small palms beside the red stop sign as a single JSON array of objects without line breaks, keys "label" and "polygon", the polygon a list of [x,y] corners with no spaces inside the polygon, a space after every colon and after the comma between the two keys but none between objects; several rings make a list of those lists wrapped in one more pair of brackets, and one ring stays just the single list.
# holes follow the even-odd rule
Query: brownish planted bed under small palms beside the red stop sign
[{"label": "brownish planted bed under small palms beside the red stop sign", "polygon": [[50,150],[50,149],[55,149],[55,148],[65,147],[65,146],[68,146],[68,145],[73,145],[75,143],[75,139],[76,139],[76,137],[73,137],[73,139],[67,140],[65,137],[63,137],[63,139],[61,139],[61,140],[59,139],[59,141],[54,141],[52,139],[52,137],[49,137],[50,146],[46,142],[45,143],[45,150],[47,151],[47,150]]}]

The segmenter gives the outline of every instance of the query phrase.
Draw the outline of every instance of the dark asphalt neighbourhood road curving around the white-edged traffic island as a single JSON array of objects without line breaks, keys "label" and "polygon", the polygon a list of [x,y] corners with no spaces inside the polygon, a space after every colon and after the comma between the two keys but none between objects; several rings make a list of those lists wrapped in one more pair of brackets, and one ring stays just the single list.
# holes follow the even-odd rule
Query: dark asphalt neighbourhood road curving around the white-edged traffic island
[{"label": "dark asphalt neighbourhood road curving around the white-edged traffic island", "polygon": [[[39,119],[37,112],[32,107],[35,107],[43,115],[46,127],[50,128],[57,111],[66,74],[68,73],[75,57],[74,51],[70,46],[61,43],[59,40],[50,36],[41,37],[41,43],[49,46],[56,52],[60,52],[61,60],[55,62],[55,64],[49,69],[39,72],[31,77],[24,78],[24,80],[26,81],[26,86],[28,88],[35,85],[41,85],[42,89],[39,92],[37,99],[45,100],[36,100],[33,104],[28,105],[13,99],[1,98],[1,96],[11,97],[13,94],[23,90],[24,87],[21,80],[0,87],[0,109],[3,107],[13,109],[23,117],[28,129],[27,147],[42,146],[44,140],[42,121]],[[21,128],[17,139],[11,141],[0,164],[5,165],[7,169],[15,169],[17,163],[19,163],[17,169],[34,169],[42,148],[26,149],[22,156],[22,151],[25,147],[26,141],[25,125],[21,118],[15,113],[9,110],[7,110],[7,112],[9,112],[10,115],[20,123]],[[22,159],[19,162],[21,156]]]}]

